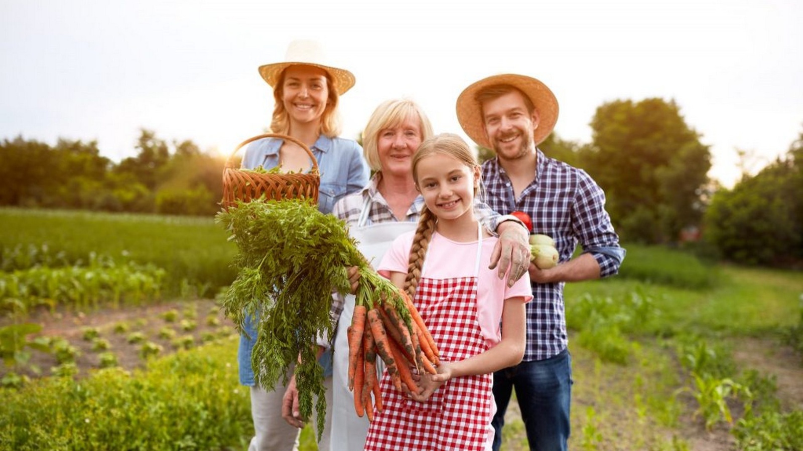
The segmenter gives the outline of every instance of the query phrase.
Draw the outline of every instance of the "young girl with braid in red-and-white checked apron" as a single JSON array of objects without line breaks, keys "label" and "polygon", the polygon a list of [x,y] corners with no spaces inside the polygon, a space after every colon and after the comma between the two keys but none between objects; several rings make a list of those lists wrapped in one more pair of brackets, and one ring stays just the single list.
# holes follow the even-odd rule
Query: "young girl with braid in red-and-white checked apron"
[{"label": "young girl with braid in red-and-white checked apron", "polygon": [[508,288],[482,264],[497,238],[471,208],[479,173],[471,149],[453,134],[425,140],[413,157],[426,207],[415,232],[393,242],[378,270],[414,300],[441,364],[437,374],[419,375],[419,393],[398,391],[383,374],[384,408],[374,412],[366,450],[491,449],[492,374],[524,356],[524,303],[532,292],[528,276]]}]

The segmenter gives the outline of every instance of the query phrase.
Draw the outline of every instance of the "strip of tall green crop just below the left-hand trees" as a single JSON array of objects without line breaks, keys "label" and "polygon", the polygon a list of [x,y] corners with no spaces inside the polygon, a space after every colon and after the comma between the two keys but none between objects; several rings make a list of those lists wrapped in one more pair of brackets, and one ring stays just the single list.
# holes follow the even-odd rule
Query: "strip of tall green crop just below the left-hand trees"
[{"label": "strip of tall green crop just below the left-hand trees", "polygon": [[0,224],[3,268],[41,260],[74,265],[94,252],[164,269],[165,295],[189,289],[211,298],[234,280],[234,244],[211,217],[2,208]]}]

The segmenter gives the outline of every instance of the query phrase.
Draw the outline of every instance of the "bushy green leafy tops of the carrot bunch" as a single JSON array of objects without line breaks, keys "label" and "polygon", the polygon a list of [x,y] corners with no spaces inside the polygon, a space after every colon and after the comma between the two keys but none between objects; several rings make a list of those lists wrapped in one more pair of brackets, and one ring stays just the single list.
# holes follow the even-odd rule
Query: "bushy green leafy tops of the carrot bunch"
[{"label": "bushy green leafy tops of the carrot bunch", "polygon": [[238,249],[237,277],[224,293],[222,308],[241,333],[247,321],[255,321],[255,382],[270,391],[279,377],[287,383],[295,364],[300,413],[310,417],[317,397],[320,433],[326,401],[316,339],[332,336],[332,290],[348,292],[346,268],[364,259],[344,222],[320,213],[312,201],[239,202],[215,220]]}]

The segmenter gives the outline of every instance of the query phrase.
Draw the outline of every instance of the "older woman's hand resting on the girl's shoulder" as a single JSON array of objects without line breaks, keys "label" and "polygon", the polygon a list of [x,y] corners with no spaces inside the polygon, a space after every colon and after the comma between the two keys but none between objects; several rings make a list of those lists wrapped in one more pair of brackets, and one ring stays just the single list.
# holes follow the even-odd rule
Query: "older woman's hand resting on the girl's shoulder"
[{"label": "older woman's hand resting on the girl's shoulder", "polygon": [[507,276],[507,286],[513,286],[530,266],[530,234],[515,221],[504,221],[496,227],[499,241],[491,254],[488,269],[499,268],[499,278]]}]

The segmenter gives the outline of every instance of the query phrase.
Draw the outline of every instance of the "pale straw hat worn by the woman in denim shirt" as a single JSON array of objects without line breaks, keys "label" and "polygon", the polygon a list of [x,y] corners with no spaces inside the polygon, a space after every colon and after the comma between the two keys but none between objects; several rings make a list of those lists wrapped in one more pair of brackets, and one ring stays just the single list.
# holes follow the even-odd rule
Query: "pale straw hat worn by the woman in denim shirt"
[{"label": "pale straw hat worn by the woman in denim shirt", "polygon": [[282,71],[296,65],[320,67],[327,71],[338,95],[349,91],[356,81],[351,72],[334,67],[328,62],[319,43],[302,39],[293,41],[287,46],[287,54],[284,56],[283,62],[259,66],[259,75],[262,75],[267,84],[275,89]]}]

